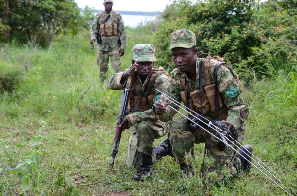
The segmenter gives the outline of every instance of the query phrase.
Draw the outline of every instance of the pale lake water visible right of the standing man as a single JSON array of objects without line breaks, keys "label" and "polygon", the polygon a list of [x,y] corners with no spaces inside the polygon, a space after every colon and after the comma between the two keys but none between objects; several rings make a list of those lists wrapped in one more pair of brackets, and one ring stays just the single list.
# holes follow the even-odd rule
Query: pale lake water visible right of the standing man
[{"label": "pale lake water visible right of the standing man", "polygon": [[155,21],[157,16],[143,16],[143,15],[126,15],[121,14],[124,25],[135,28],[139,23],[145,23],[148,21]]}]

